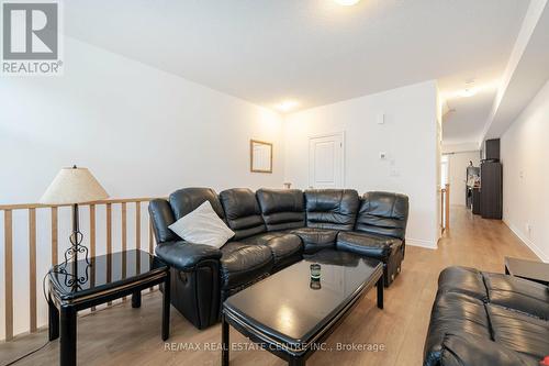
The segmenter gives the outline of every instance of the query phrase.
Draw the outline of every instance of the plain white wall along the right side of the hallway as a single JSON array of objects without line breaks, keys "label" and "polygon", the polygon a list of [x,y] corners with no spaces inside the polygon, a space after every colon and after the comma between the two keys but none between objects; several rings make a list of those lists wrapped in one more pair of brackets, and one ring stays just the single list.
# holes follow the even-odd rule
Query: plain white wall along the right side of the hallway
[{"label": "plain white wall along the right side of the hallway", "polygon": [[545,262],[549,262],[548,115],[549,81],[501,141],[503,220]]}]

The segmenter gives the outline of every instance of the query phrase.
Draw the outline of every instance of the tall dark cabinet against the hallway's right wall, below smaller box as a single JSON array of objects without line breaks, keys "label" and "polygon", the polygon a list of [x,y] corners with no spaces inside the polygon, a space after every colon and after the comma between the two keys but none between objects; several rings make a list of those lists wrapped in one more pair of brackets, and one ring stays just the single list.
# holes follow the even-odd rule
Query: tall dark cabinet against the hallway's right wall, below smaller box
[{"label": "tall dark cabinet against the hallway's right wall, below smaller box", "polygon": [[484,219],[502,219],[503,211],[503,168],[498,162],[484,162],[481,165],[480,211]]}]

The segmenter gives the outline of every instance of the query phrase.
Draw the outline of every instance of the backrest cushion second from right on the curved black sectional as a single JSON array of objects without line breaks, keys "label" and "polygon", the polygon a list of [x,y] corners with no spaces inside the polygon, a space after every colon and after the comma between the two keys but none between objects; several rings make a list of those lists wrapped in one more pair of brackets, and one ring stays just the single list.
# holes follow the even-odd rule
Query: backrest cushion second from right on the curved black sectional
[{"label": "backrest cushion second from right on the curved black sectional", "polygon": [[359,198],[354,189],[313,189],[305,191],[309,228],[352,230]]}]

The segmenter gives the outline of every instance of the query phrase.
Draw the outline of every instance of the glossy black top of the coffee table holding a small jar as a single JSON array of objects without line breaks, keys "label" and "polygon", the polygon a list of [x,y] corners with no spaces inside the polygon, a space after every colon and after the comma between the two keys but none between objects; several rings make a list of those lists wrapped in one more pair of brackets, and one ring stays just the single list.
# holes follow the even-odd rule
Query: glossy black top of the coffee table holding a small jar
[{"label": "glossy black top of the coffee table holding a small jar", "polygon": [[[321,264],[320,288],[311,280],[314,263]],[[262,333],[300,344],[382,273],[379,260],[325,249],[229,297],[224,308]]]}]

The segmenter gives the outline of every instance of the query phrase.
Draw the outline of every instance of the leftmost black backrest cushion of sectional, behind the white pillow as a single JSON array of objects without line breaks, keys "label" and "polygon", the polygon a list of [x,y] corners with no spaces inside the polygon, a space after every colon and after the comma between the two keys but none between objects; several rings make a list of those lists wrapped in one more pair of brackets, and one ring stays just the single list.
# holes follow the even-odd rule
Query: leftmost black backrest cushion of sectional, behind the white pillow
[{"label": "leftmost black backrest cushion of sectional, behind the white pillow", "polygon": [[212,188],[183,188],[176,190],[170,195],[169,201],[176,221],[194,211],[205,201],[210,201],[215,213],[220,215],[220,219],[225,218],[217,193]]}]

